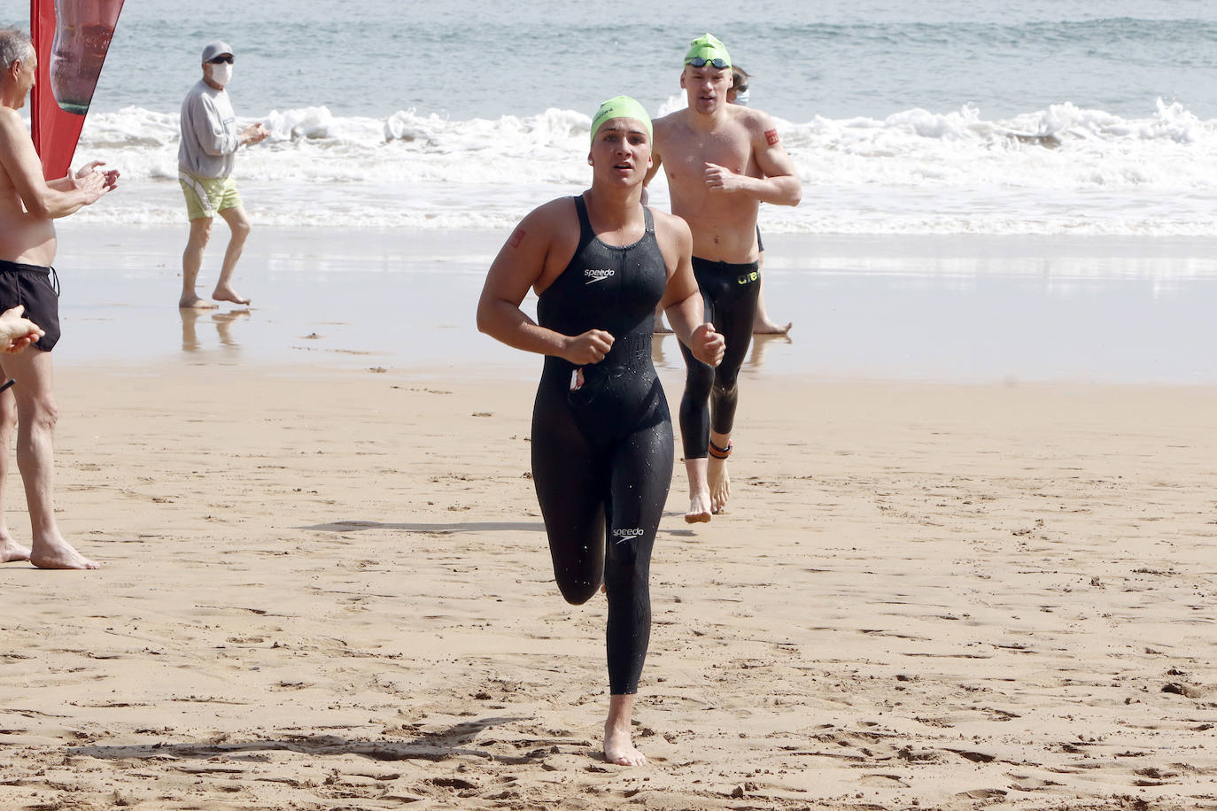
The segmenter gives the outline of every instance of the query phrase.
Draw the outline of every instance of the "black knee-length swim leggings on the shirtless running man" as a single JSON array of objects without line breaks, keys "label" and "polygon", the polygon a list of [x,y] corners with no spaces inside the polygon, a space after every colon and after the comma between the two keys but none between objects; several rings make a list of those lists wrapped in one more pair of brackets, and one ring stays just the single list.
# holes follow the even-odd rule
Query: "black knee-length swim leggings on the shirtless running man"
[{"label": "black knee-length swim leggings on the shirtless running man", "polygon": [[755,261],[740,265],[697,257],[692,258],[692,274],[701,288],[706,321],[712,322],[727,342],[723,362],[717,367],[701,362],[680,344],[688,370],[680,398],[680,439],[685,458],[706,458],[711,424],[720,434],[731,433],[735,424],[736,382],[752,342],[761,274]]}]

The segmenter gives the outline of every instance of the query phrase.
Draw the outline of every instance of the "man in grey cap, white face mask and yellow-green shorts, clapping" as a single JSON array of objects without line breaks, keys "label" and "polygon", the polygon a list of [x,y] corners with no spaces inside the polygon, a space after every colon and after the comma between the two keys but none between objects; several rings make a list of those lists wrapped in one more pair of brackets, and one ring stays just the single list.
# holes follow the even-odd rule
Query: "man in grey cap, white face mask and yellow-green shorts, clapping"
[{"label": "man in grey cap, white face mask and yellow-green shorts, clapping", "polygon": [[217,302],[248,304],[232,288],[232,271],[241,258],[249,218],[232,180],[232,164],[242,143],[258,143],[270,133],[260,123],[243,130],[236,128],[232,102],[224,88],[232,79],[232,49],[228,43],[212,43],[203,49],[203,78],[181,102],[181,142],[178,146],[178,179],[186,195],[190,216],[190,241],[181,255],[181,299],[179,308],[217,306],[195,293],[195,281],[203,264],[203,249],[212,236],[212,220],[219,213],[232,235],[224,252],[220,277],[212,298]]}]

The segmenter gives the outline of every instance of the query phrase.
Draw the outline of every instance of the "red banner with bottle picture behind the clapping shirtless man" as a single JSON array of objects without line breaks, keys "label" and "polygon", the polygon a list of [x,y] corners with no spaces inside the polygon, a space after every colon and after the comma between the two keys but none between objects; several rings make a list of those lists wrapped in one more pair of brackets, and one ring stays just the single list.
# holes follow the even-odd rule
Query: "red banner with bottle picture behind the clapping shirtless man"
[{"label": "red banner with bottle picture behind the clapping shirtless man", "polygon": [[123,0],[29,2],[29,33],[38,52],[30,120],[47,180],[62,178],[72,165],[122,10]]}]

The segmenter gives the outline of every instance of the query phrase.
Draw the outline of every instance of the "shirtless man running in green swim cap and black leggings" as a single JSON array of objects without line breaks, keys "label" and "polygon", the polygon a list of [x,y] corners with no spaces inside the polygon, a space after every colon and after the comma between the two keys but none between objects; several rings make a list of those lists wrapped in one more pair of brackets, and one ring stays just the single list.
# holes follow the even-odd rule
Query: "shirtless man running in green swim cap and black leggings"
[{"label": "shirtless man running in green swim cap and black leggings", "polygon": [[[706,34],[685,53],[680,86],[689,98],[655,122],[654,165],[647,181],[667,168],[672,213],[692,231],[692,269],[705,314],[727,339],[716,370],[682,343],[688,366],[680,400],[680,437],[689,475],[686,522],[710,520],[730,492],[727,457],[739,396],[736,378],[756,316],[757,209],[761,203],[797,205],[802,197],[795,164],[768,114],[729,105],[731,57]],[[711,457],[707,460],[707,456]]]}]

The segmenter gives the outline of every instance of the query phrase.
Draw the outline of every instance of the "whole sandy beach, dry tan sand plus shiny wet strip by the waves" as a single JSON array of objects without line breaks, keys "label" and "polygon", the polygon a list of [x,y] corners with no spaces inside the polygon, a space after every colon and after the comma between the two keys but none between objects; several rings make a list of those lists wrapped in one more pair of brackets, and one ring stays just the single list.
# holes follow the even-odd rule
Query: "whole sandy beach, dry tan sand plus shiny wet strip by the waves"
[{"label": "whole sandy beach, dry tan sand plus shiny wet strip by the waves", "polygon": [[[170,237],[86,232],[58,263],[57,507],[103,568],[0,570],[0,807],[1217,809],[1217,376],[1190,343],[1212,326],[1180,317],[1211,276],[775,259],[796,332],[746,367],[728,513],[690,529],[674,481],[651,764],[623,768],[598,754],[605,604],[561,601],[528,478],[539,361],[472,330],[486,248],[357,270],[271,237],[237,280],[252,312],[187,323]],[[1006,321],[902,340],[943,317],[896,305],[944,291]],[[1143,293],[1177,328],[1121,366],[1145,322],[1106,305]],[[867,302],[891,309],[859,326]],[[856,333],[830,342],[834,312]],[[1055,357],[1034,338],[1079,320],[1112,327]]]}]

